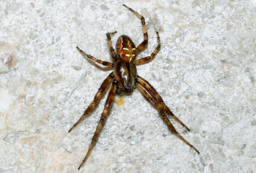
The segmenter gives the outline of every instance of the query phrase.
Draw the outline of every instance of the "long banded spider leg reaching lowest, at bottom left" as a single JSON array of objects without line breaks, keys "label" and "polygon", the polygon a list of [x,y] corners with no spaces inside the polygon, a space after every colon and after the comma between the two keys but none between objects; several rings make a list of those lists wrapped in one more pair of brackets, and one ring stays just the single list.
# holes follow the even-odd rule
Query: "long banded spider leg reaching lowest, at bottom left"
[{"label": "long banded spider leg reaching lowest, at bottom left", "polygon": [[96,138],[97,138],[97,136],[98,136],[98,133],[100,132],[100,128],[101,128],[101,126],[102,126],[102,123],[103,123],[104,119],[106,118],[106,115],[107,115],[107,113],[108,113],[108,109],[110,108],[111,103],[112,103],[112,101],[113,101],[113,99],[114,99],[114,96],[115,96],[115,93],[116,93],[116,86],[117,86],[117,84],[118,84],[118,81],[116,81],[116,80],[114,80],[114,81],[112,82],[112,86],[111,86],[111,89],[109,90],[108,97],[107,97],[107,100],[106,100],[106,103],[105,103],[105,106],[104,106],[104,110],[103,110],[103,112],[101,113],[101,118],[100,118],[99,124],[98,124],[98,126],[97,126],[97,128],[96,128],[96,131],[94,132],[93,137],[92,137],[91,145],[90,145],[90,147],[89,147],[89,149],[88,149],[88,151],[87,151],[86,156],[84,157],[83,162],[80,164],[80,166],[78,167],[78,169],[81,168],[81,166],[82,166],[83,163],[85,162],[86,158],[88,157],[90,151],[92,150],[92,146],[93,146],[94,142],[96,141]]}]

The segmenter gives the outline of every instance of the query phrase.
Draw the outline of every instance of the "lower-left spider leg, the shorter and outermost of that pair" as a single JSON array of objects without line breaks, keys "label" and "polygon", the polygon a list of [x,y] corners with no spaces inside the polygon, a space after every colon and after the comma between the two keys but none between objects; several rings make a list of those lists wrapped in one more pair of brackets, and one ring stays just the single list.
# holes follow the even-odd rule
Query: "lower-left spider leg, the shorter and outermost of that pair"
[{"label": "lower-left spider leg, the shorter and outermost of that pair", "polygon": [[97,101],[98,101],[99,98],[100,98],[100,95],[101,95],[101,94],[103,93],[103,91],[108,87],[109,83],[112,81],[113,78],[114,78],[114,75],[113,75],[113,72],[112,72],[112,73],[110,73],[110,74],[108,75],[108,77],[102,82],[102,84],[101,84],[101,86],[100,86],[98,92],[97,92],[97,93],[95,94],[95,96],[94,96],[94,99],[93,99],[92,103],[88,106],[88,108],[84,111],[83,115],[79,118],[79,120],[76,122],[76,124],[74,124],[74,125],[70,128],[70,130],[69,130],[68,132],[70,132],[74,127],[76,127],[76,125],[79,124],[79,123],[83,120],[84,116],[85,116],[86,114],[88,114],[88,113],[95,107]]}]

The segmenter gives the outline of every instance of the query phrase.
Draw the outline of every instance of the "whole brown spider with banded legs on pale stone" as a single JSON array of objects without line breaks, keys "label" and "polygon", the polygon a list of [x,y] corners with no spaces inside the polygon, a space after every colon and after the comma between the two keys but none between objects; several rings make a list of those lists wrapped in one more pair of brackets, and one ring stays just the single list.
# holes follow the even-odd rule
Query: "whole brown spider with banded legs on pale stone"
[{"label": "whole brown spider with banded legs on pale stone", "polygon": [[144,41],[142,41],[137,48],[135,47],[134,43],[132,42],[132,40],[128,36],[121,35],[118,38],[117,43],[116,43],[116,52],[117,52],[117,54],[116,54],[115,50],[113,48],[113,45],[112,45],[111,38],[110,38],[110,35],[115,34],[116,31],[112,32],[112,33],[107,33],[108,44],[110,46],[112,57],[115,60],[114,64],[110,63],[110,62],[106,62],[106,61],[101,61],[101,60],[99,60],[99,59],[97,59],[97,58],[95,58],[91,55],[86,54],[83,50],[76,47],[82,54],[84,54],[84,56],[87,56],[88,58],[92,59],[93,61],[96,61],[97,63],[102,64],[102,65],[114,68],[114,71],[112,71],[108,75],[108,77],[103,81],[103,83],[101,84],[98,92],[94,96],[94,100],[89,105],[89,107],[84,111],[84,114],[79,118],[79,120],[76,122],[76,124],[74,124],[71,127],[71,129],[68,131],[68,132],[70,132],[77,124],[79,124],[82,121],[84,116],[86,114],[88,114],[95,107],[97,101],[100,98],[100,95],[103,93],[103,91],[107,88],[107,86],[113,80],[110,91],[108,93],[108,97],[107,97],[107,100],[106,100],[106,103],[105,103],[104,110],[101,114],[100,122],[99,122],[99,124],[97,126],[97,129],[94,132],[94,135],[92,137],[91,145],[89,147],[89,150],[88,150],[86,156],[84,157],[83,162],[80,164],[78,169],[81,168],[81,166],[85,162],[86,158],[88,157],[90,151],[92,150],[92,146],[93,146],[94,142],[96,141],[98,133],[100,132],[100,128],[101,128],[101,126],[102,126],[102,124],[103,124],[103,122],[106,118],[106,115],[108,113],[108,109],[111,106],[111,103],[114,99],[114,96],[115,96],[116,92],[118,94],[121,94],[123,92],[131,93],[133,91],[133,89],[135,89],[135,87],[137,87],[141,91],[141,93],[146,98],[148,98],[148,100],[150,100],[157,107],[157,109],[160,111],[161,116],[163,117],[164,122],[167,123],[169,130],[171,129],[171,132],[175,133],[178,137],[180,137],[181,140],[183,140],[186,144],[188,144],[190,147],[192,147],[199,154],[199,151],[195,147],[193,147],[190,143],[188,143],[188,141],[185,140],[176,131],[176,129],[173,127],[172,123],[170,122],[170,120],[168,119],[166,114],[169,115],[169,116],[172,116],[176,121],[178,121],[188,131],[190,131],[188,129],[188,127],[185,124],[183,124],[172,113],[172,111],[165,105],[162,97],[156,92],[156,89],[152,85],[150,85],[147,80],[145,80],[145,79],[141,78],[139,75],[137,75],[136,65],[138,65],[140,63],[144,63],[144,62],[146,62],[146,61],[148,61],[148,60],[150,60],[150,59],[152,59],[156,56],[156,54],[157,54],[157,52],[158,52],[158,50],[160,49],[160,46],[161,46],[160,38],[159,38],[158,32],[156,32],[158,45],[156,46],[156,49],[154,50],[154,52],[150,56],[135,60],[137,54],[148,43],[148,33],[147,33],[144,17],[141,16],[136,11],[132,10],[130,7],[128,7],[126,5],[124,5],[124,6],[126,8],[128,8],[130,11],[132,11],[134,14],[136,14],[140,18],[141,23],[142,23]]}]

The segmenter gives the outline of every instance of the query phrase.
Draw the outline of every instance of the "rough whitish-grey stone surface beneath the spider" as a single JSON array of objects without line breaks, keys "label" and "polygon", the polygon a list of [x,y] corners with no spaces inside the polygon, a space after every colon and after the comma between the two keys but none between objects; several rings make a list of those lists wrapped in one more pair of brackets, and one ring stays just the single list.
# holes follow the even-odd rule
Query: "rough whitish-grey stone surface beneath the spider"
[{"label": "rough whitish-grey stone surface beneath the spider", "polygon": [[[113,104],[97,144],[84,159],[106,95],[73,131],[111,68],[76,46],[111,61],[126,34],[150,55],[159,31],[162,49],[138,66],[174,114],[193,149],[168,132],[136,90]],[[256,172],[256,1],[0,1],[0,173]],[[122,100],[122,98],[121,98]],[[119,103],[119,102],[118,102]],[[174,123],[174,121],[173,121]]]}]

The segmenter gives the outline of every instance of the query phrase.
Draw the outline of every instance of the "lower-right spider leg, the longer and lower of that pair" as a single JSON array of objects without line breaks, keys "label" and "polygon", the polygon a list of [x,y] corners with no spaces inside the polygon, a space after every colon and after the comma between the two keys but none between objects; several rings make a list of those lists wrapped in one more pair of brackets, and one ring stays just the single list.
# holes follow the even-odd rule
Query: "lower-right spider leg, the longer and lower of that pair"
[{"label": "lower-right spider leg, the longer and lower of that pair", "polygon": [[140,81],[137,79],[135,80],[135,86],[138,86],[139,90],[142,92],[142,94],[148,98],[160,111],[161,116],[163,117],[163,120],[167,123],[168,128],[171,129],[171,132],[175,133],[178,137],[180,137],[181,140],[183,140],[188,146],[192,147],[198,154],[199,151],[192,146],[186,139],[184,139],[173,127],[172,123],[170,122],[169,118],[165,115],[164,109],[161,103],[158,102],[158,99],[154,97],[154,93],[149,90],[146,86],[144,86]]}]

